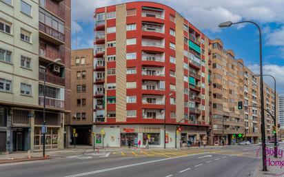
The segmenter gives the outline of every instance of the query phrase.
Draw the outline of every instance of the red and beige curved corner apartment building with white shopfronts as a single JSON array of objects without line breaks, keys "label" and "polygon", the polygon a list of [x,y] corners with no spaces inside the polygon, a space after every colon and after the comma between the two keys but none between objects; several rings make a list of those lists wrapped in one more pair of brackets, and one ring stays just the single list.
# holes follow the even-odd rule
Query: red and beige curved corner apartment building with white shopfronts
[{"label": "red and beige curved corner apartment building with white shopfronts", "polygon": [[96,145],[209,144],[210,40],[160,3],[97,8],[94,19]]}]

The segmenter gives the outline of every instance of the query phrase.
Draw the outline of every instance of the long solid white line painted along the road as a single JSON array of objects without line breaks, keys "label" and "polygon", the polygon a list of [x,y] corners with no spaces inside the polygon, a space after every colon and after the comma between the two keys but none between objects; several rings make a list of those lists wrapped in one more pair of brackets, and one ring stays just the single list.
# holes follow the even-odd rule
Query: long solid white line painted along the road
[{"label": "long solid white line painted along the road", "polygon": [[[205,153],[203,153],[205,154]],[[64,177],[79,177],[79,176],[87,176],[87,175],[91,175],[91,174],[99,174],[105,171],[113,171],[116,169],[124,169],[124,168],[128,168],[128,167],[135,167],[135,166],[139,166],[139,165],[145,165],[145,164],[149,164],[149,163],[158,163],[158,162],[162,162],[165,160],[172,160],[172,159],[176,159],[176,158],[185,158],[188,156],[196,156],[196,155],[200,155],[200,154],[189,154],[187,156],[176,156],[176,157],[171,157],[171,158],[162,158],[162,159],[158,159],[158,160],[151,160],[151,161],[146,161],[143,163],[134,163],[134,164],[130,164],[130,165],[123,165],[123,166],[119,166],[119,167],[112,167],[112,168],[108,168],[108,169],[99,169],[96,171],[89,171],[89,172],[85,172],[85,173],[81,173],[81,174],[73,174],[70,176],[64,176]]]}]

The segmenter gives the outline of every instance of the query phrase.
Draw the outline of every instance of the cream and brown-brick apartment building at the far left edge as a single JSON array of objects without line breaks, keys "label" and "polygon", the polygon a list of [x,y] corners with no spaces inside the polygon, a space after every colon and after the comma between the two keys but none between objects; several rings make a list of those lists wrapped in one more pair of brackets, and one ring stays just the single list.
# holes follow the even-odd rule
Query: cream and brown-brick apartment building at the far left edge
[{"label": "cream and brown-brick apartment building at the far left edge", "polygon": [[[45,69],[46,148],[63,148],[65,110],[70,110],[65,104],[70,1],[3,0],[0,5],[0,151],[42,149]],[[54,59],[61,63],[50,64]]]}]

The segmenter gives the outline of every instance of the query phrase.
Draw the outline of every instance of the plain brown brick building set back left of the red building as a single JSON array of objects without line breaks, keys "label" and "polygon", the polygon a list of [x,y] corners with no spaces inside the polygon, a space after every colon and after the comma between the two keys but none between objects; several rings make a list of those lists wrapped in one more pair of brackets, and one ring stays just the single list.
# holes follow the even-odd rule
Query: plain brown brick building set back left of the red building
[{"label": "plain brown brick building set back left of the red building", "polygon": [[77,133],[77,145],[92,145],[94,67],[92,48],[72,50],[71,116],[65,124],[67,145],[74,143],[73,129]]}]

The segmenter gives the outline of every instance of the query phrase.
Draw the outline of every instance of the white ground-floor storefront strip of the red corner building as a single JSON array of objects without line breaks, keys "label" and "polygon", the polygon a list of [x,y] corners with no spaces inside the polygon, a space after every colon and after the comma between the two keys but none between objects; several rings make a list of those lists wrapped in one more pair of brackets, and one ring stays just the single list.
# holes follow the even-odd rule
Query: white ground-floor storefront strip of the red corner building
[{"label": "white ground-floor storefront strip of the red corner building", "polygon": [[[121,124],[121,125],[94,125],[96,133],[96,147],[136,147],[139,140],[141,147],[148,143],[149,147],[166,148],[181,147],[183,143],[191,141],[207,144],[208,127],[182,125],[181,131],[176,131],[176,125],[144,125],[144,124]],[[102,135],[101,133],[104,133]],[[148,141],[148,142],[147,142]]]}]

